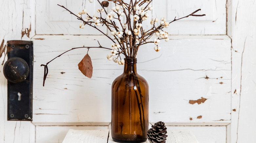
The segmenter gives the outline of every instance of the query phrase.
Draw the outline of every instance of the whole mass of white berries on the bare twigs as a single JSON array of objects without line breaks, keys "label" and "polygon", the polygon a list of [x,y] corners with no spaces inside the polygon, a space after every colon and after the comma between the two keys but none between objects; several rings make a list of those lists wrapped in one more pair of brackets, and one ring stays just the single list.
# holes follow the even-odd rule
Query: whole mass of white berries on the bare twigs
[{"label": "whole mass of white berries on the bare twigs", "polygon": [[[151,0],[146,0],[146,3],[148,4]],[[93,3],[94,0],[89,0],[90,3]],[[111,8],[110,12],[107,13],[106,15],[106,18],[105,20],[107,21],[112,21],[112,20],[115,20],[117,18],[115,18],[115,13],[117,14],[118,16],[118,19],[119,17],[123,17],[125,14],[124,14],[124,10],[126,8],[126,5],[125,4],[122,4],[122,5],[116,5],[114,7]],[[147,7],[140,7],[139,5],[136,5],[134,6],[134,11],[131,12],[131,15],[133,15],[133,21],[135,24],[135,29],[128,29],[126,28],[127,27],[127,24],[124,23],[124,24],[121,24],[121,30],[119,29],[116,29],[115,30],[112,30],[111,31],[111,35],[115,36],[115,37],[118,37],[118,38],[123,38],[123,37],[126,37],[127,40],[129,40],[129,36],[130,35],[135,35],[135,36],[139,36],[139,34],[141,33],[146,35],[146,32],[145,30],[141,30],[141,27],[142,27],[142,21],[145,21],[149,18],[149,12],[148,10],[153,10],[153,7],[152,5],[147,5]],[[92,17],[87,13],[87,9],[83,9],[82,12],[79,12],[77,14],[77,17],[81,18],[82,14],[85,14],[85,19],[84,19],[84,23],[80,23],[79,24],[79,27],[84,29],[84,25],[86,24],[87,21],[89,20],[93,20],[95,25],[97,26],[100,26],[102,23],[104,23],[104,20],[102,20],[102,17],[101,17],[101,14],[105,11],[103,8],[101,9],[97,9],[96,10],[97,13],[100,13],[100,17],[97,15],[97,14],[94,14]],[[127,12],[126,12],[127,14]],[[132,18],[132,17],[131,17]],[[150,24],[151,25],[155,25],[155,23],[158,23],[159,19],[158,18],[152,18],[152,20],[150,21]],[[160,19],[160,26],[161,27],[164,27],[164,28],[168,28],[169,27],[169,23],[166,22],[166,18],[162,17]],[[161,29],[161,28],[160,28]],[[156,52],[160,51],[161,47],[159,46],[159,43],[160,43],[160,40],[164,39],[166,42],[169,41],[169,38],[168,38],[168,32],[165,32],[165,31],[160,31],[160,29],[155,29],[156,32],[155,32],[155,35],[158,37],[156,39],[154,39],[153,42],[156,46],[154,47],[154,50]],[[154,32],[154,31],[153,31]],[[135,38],[136,40],[136,43],[139,43],[139,42],[143,42],[143,43],[147,43],[149,40],[146,39],[146,40],[143,40],[143,39],[140,39],[139,37]],[[121,48],[120,44],[117,44],[117,43],[114,43],[111,45],[112,49],[110,51],[111,54],[108,54],[107,55],[107,59],[108,60],[113,60],[115,63],[118,63],[119,65],[123,65],[124,64],[124,60],[118,60],[116,57],[113,57],[113,56],[116,56],[118,54],[120,54],[118,52],[118,49]]]}]

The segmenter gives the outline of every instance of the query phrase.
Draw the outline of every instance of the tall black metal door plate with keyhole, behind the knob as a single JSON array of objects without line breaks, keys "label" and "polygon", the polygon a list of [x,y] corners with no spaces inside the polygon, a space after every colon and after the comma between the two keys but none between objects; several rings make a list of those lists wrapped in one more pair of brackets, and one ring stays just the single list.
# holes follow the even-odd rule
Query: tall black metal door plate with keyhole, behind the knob
[{"label": "tall black metal door plate with keyhole, behind the knob", "polygon": [[33,42],[22,40],[7,41],[8,59],[20,57],[29,66],[26,80],[19,83],[8,81],[7,120],[32,121],[33,93]]}]

